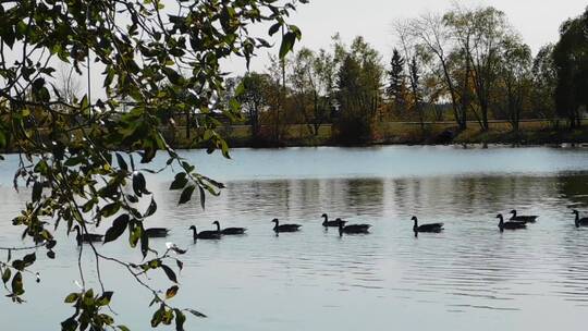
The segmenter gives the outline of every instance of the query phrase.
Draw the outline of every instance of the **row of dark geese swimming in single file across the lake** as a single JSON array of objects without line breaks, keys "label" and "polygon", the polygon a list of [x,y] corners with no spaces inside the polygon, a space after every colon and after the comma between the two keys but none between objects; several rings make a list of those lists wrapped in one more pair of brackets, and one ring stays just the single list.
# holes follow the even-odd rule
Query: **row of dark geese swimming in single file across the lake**
[{"label": "row of dark geese swimming in single file across the lake", "polygon": [[[588,218],[580,218],[579,211],[577,210],[573,210],[573,213],[575,214],[574,223],[576,228],[588,226]],[[504,221],[504,217],[501,213],[497,214],[497,218],[500,219],[498,226],[501,232],[503,232],[504,230],[526,229],[528,223],[535,223],[539,218],[538,216],[517,214],[516,210],[512,210],[511,214],[512,216],[507,221]],[[322,222],[322,226],[324,226],[326,229],[338,228],[340,236],[342,236],[343,234],[367,234],[369,233],[369,228],[371,228],[371,224],[347,224],[347,221],[344,221],[341,218],[338,218],[334,221],[329,221],[329,216],[327,213],[323,213],[321,218],[324,219]],[[415,233],[415,236],[417,236],[420,232],[440,233],[444,230],[444,223],[429,223],[419,225],[418,219],[415,216],[412,218],[412,221],[414,221],[413,232]],[[278,219],[273,219],[271,222],[274,223],[273,232],[275,232],[275,234],[282,232],[297,232],[302,228],[301,224],[280,224],[280,221]],[[189,230],[192,230],[193,232],[193,238],[195,241],[220,240],[223,235],[243,235],[247,231],[246,228],[221,229],[219,221],[215,221],[212,222],[212,224],[217,225],[217,230],[198,232],[195,225],[189,226]],[[101,234],[82,233],[78,225],[75,225],[74,230],[77,232],[76,241],[78,245],[81,245],[82,243],[103,241],[103,235]],[[170,230],[167,228],[145,229],[145,235],[147,235],[148,237],[166,237],[169,233]]]}]

